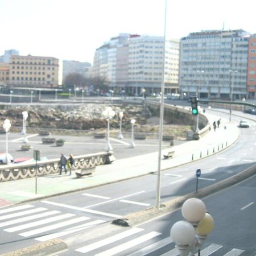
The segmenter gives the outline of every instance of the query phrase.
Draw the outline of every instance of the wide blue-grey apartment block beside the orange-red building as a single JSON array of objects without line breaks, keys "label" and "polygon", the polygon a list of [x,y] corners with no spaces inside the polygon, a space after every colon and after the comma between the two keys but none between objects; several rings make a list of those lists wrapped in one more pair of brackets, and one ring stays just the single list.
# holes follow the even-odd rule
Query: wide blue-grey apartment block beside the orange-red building
[{"label": "wide blue-grey apartment block beside the orange-red building", "polygon": [[246,97],[249,38],[243,30],[193,32],[181,38],[180,92],[200,98]]}]

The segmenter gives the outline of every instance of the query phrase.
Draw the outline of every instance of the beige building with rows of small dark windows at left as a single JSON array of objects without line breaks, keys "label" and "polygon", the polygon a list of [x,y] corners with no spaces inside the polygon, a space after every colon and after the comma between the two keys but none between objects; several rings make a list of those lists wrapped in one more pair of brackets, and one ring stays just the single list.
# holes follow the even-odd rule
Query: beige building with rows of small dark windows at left
[{"label": "beige building with rows of small dark windows at left", "polygon": [[59,84],[59,60],[54,57],[12,55],[9,86],[55,87]]}]

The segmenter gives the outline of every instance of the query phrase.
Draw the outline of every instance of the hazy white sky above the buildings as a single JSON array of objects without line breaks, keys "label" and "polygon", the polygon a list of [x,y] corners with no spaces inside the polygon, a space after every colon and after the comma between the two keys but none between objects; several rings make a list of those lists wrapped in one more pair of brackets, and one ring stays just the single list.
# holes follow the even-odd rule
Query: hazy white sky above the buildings
[{"label": "hazy white sky above the buildings", "polygon": [[[0,55],[52,56],[93,63],[119,33],[164,35],[165,0],[0,0]],[[256,33],[254,0],[167,0],[167,38],[201,30]]]}]

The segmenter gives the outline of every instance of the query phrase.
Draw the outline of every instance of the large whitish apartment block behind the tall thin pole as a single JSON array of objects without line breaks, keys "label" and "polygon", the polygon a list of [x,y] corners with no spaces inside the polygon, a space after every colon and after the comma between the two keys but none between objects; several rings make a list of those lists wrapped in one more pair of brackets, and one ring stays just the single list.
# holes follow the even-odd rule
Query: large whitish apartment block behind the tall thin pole
[{"label": "large whitish apartment block behind the tall thin pole", "polygon": [[[96,50],[93,76],[108,80],[115,90],[132,94],[160,92],[163,75],[164,39],[154,36],[120,34]],[[177,92],[179,41],[166,40],[164,61],[166,92]]]}]

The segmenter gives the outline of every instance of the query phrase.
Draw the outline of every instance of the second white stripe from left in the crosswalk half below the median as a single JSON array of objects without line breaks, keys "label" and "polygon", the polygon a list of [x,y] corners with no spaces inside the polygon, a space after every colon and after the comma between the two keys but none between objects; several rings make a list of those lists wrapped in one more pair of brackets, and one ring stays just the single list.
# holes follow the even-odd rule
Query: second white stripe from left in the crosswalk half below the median
[{"label": "second white stripe from left in the crosswalk half below the median", "polygon": [[127,250],[135,245],[139,245],[140,243],[146,242],[150,240],[151,238],[154,238],[156,236],[160,236],[161,233],[158,232],[150,232],[148,234],[144,234],[141,237],[134,238],[133,240],[122,243],[122,245],[118,245],[113,247],[112,249],[102,251],[102,253],[95,254],[95,256],[112,256],[114,254],[120,253],[121,251]]}]

